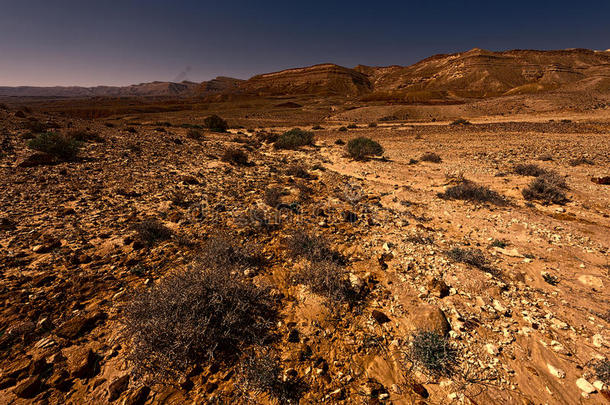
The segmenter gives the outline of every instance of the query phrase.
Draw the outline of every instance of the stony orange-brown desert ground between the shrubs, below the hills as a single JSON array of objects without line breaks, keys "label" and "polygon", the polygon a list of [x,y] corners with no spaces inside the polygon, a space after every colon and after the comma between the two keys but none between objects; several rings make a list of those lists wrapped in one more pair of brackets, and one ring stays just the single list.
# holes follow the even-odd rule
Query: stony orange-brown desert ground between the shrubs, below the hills
[{"label": "stony orange-brown desert ground between the shrubs, below the hills", "polygon": [[[52,162],[27,148],[32,117],[98,136],[75,161]],[[594,369],[610,353],[610,186],[592,181],[610,175],[607,121],[322,124],[315,146],[284,151],[269,134],[289,122],[192,139],[171,114],[0,119],[0,403],[273,403],[242,386],[238,361],[165,384],[127,361],[124,304],[190,266],[219,229],[261,247],[265,265],[244,277],[272,288],[266,347],[305,387],[300,403],[610,401]],[[336,141],[357,136],[383,158],[346,157]],[[248,161],[226,161],[228,149]],[[441,161],[421,161],[427,152]],[[520,163],[565,176],[568,201],[526,201]],[[463,178],[504,201],[439,197]],[[143,243],[147,219],[171,236]],[[291,282],[304,265],[286,247],[295,230],[344,258],[357,302]],[[460,263],[454,248],[482,259]],[[405,355],[420,330],[446,336],[451,373]]]}]

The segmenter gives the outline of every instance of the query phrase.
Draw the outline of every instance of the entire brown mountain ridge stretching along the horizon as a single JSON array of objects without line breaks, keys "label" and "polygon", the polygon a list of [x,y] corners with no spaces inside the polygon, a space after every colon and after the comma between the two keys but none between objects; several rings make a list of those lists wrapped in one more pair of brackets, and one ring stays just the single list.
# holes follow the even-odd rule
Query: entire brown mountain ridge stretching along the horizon
[{"label": "entire brown mountain ridge stretching along the horizon", "polygon": [[544,91],[610,92],[610,51],[472,49],[440,54],[410,66],[353,69],[326,63],[203,83],[152,82],[125,87],[0,87],[8,97],[192,97],[339,95],[369,100],[429,102]]}]

